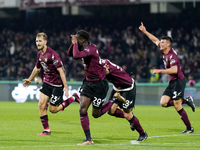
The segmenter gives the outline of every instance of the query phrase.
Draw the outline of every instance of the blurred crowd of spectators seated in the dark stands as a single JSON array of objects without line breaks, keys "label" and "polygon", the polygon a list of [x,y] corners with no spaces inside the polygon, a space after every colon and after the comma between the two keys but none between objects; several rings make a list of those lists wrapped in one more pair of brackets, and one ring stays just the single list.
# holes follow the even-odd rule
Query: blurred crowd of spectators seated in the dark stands
[{"label": "blurred crowd of spectators seated in the dark stands", "polygon": [[[85,20],[85,22],[88,22]],[[127,20],[128,21],[128,20]],[[78,22],[78,20],[76,20]],[[80,21],[81,22],[81,21]],[[168,76],[152,75],[152,68],[164,68],[159,49],[141,31],[140,22],[125,26],[103,26],[102,20],[88,26],[87,24],[55,26],[38,26],[30,31],[12,28],[0,29],[0,79],[22,80],[27,78],[36,63],[37,48],[35,36],[38,32],[46,32],[47,45],[56,50],[66,69],[68,81],[82,81],[85,77],[81,60],[75,60],[67,55],[71,44],[71,34],[84,29],[90,33],[91,43],[99,48],[102,58],[122,66],[137,82],[168,82]],[[178,22],[178,21],[177,21]],[[173,38],[173,48],[180,58],[182,71],[188,78],[200,81],[200,28],[188,27],[182,21],[180,27],[160,26],[156,22],[144,22],[147,30],[157,37],[169,35]],[[152,28],[155,26],[155,28]],[[157,27],[157,28],[156,28]]]}]

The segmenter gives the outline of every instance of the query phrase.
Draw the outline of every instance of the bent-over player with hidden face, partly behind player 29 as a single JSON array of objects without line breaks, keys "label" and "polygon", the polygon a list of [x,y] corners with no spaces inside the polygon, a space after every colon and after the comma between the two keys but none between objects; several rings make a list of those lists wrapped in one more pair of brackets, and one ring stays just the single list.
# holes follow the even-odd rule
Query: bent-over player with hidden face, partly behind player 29
[{"label": "bent-over player with hidden face, partly behind player 29", "polygon": [[[106,78],[113,84],[113,90],[109,99],[113,99],[114,103],[108,114],[118,118],[126,118],[130,123],[132,131],[136,130],[139,133],[137,141],[144,141],[148,135],[140,125],[139,120],[133,114],[132,110],[135,106],[136,97],[136,84],[129,74],[123,70],[120,66],[112,63],[108,59],[101,59],[102,65],[106,68]],[[125,99],[126,103],[116,102],[115,99]],[[123,109],[118,109],[117,107]]]}]

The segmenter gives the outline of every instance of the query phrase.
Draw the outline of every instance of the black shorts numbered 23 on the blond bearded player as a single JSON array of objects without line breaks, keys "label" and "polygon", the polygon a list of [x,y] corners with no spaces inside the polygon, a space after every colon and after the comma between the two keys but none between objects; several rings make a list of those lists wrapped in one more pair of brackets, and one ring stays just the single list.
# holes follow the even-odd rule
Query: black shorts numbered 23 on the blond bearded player
[{"label": "black shorts numbered 23 on the blond bearded player", "polygon": [[63,86],[56,87],[43,82],[40,92],[49,96],[50,104],[53,106],[57,106],[63,102]]}]

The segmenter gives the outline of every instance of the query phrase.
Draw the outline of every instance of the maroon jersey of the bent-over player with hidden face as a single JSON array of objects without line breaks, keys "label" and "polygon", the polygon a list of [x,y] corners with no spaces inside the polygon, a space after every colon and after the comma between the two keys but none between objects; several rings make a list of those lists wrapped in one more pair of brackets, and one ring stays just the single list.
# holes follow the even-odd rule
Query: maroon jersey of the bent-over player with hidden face
[{"label": "maroon jersey of the bent-over player with hidden face", "polygon": [[120,66],[107,59],[101,59],[101,62],[103,66],[105,64],[109,66],[109,74],[106,75],[106,78],[113,84],[115,88],[122,90],[133,86],[133,79]]}]

